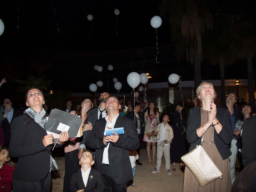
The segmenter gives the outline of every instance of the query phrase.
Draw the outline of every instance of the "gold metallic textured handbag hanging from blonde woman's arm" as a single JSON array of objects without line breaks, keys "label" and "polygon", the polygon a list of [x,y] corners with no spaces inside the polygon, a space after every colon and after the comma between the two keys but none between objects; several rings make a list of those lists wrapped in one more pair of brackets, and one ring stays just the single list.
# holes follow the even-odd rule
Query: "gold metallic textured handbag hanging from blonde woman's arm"
[{"label": "gold metallic textured handbag hanging from blonde woman's arm", "polygon": [[214,164],[202,147],[203,140],[204,137],[202,136],[201,144],[181,157],[181,160],[194,174],[198,183],[202,187],[218,178],[222,179],[222,172],[220,172],[218,167]]}]

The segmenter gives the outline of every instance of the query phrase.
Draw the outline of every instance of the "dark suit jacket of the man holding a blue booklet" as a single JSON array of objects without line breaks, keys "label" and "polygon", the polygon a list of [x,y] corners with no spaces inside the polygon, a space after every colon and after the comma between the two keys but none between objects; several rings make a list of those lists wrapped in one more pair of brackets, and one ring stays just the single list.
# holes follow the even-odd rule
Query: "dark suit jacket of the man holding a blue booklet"
[{"label": "dark suit jacket of the man holding a blue booklet", "polygon": [[[105,127],[105,118],[96,121],[85,140],[86,146],[96,149],[95,168],[98,171],[101,170],[103,151],[106,147],[103,144]],[[119,135],[116,143],[109,143],[108,160],[114,181],[116,184],[123,184],[133,178],[129,150],[137,149],[140,142],[134,121],[119,114],[114,128],[118,127],[124,127],[124,134]]]}]

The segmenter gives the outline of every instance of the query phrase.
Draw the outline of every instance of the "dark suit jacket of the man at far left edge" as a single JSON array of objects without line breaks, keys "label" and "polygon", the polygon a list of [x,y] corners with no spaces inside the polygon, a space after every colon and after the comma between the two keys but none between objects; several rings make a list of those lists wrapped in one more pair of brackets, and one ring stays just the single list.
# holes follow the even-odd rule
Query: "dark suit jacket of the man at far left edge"
[{"label": "dark suit jacket of the man at far left edge", "polygon": [[[20,115],[21,115],[21,111],[19,109],[13,109],[12,120],[14,120],[15,117],[18,117]],[[12,123],[12,120],[11,120],[11,123]],[[4,120],[1,122],[1,126],[4,131],[4,145],[5,146],[9,146],[9,143],[10,143],[11,123],[8,122],[7,118],[4,118]]]}]

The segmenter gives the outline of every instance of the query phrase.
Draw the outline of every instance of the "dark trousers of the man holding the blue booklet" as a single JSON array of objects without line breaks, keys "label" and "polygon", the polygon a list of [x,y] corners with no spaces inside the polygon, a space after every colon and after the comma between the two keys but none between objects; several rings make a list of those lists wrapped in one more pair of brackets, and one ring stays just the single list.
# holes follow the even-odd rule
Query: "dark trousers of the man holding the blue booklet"
[{"label": "dark trousers of the man holding the blue booklet", "polygon": [[102,180],[106,187],[104,192],[126,192],[127,191],[126,182],[120,185],[116,184],[116,182],[112,177],[109,165],[102,164],[100,174],[102,176]]}]

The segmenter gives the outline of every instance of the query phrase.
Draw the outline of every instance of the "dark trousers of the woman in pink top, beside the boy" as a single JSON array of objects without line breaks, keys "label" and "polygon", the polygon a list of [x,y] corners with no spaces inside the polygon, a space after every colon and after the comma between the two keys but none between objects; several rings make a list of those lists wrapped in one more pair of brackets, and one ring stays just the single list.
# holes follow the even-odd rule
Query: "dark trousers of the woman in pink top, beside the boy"
[{"label": "dark trousers of the woman in pink top, beside the boy", "polygon": [[70,192],[70,181],[72,174],[80,168],[78,152],[79,150],[76,149],[74,151],[65,153],[65,175],[63,180],[63,192]]}]

